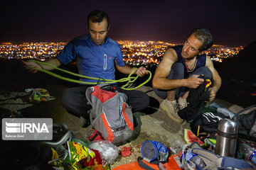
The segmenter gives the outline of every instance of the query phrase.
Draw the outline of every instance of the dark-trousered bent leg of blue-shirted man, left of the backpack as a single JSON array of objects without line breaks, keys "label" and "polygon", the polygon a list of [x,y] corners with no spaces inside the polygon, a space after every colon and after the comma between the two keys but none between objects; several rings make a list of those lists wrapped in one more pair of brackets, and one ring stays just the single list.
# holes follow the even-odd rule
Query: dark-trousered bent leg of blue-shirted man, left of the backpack
[{"label": "dark-trousered bent leg of blue-shirted man, left of the backpack", "polygon": [[90,124],[90,117],[87,114],[92,108],[87,104],[85,91],[89,86],[78,86],[70,89],[65,89],[62,94],[61,104],[69,113],[79,115],[82,127]]}]

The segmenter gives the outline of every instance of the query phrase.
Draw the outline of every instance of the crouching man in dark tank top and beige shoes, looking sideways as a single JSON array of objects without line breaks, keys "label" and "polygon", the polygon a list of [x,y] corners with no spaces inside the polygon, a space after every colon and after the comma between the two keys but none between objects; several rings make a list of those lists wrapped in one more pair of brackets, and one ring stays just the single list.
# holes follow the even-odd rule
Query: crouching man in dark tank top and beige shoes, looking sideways
[{"label": "crouching man in dark tank top and beige shoes, looking sideways", "polygon": [[220,89],[221,78],[210,57],[203,54],[212,45],[213,38],[208,30],[193,29],[183,45],[166,50],[156,68],[152,81],[154,92],[165,99],[160,107],[178,123],[183,121],[178,116],[178,111],[188,105],[188,89],[196,89],[203,84],[204,79],[198,78],[201,74],[213,81],[209,88],[209,101],[213,101]]}]

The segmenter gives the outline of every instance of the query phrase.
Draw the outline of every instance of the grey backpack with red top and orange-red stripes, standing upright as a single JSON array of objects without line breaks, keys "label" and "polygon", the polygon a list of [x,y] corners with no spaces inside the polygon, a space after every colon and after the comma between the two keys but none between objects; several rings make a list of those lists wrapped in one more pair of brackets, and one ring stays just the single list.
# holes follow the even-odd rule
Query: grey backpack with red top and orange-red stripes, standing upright
[{"label": "grey backpack with red top and orange-red stripes, standing upright", "polygon": [[87,89],[86,98],[92,106],[90,123],[95,129],[90,140],[95,140],[99,135],[114,145],[129,140],[134,123],[132,108],[126,103],[126,94],[110,84],[98,84]]}]

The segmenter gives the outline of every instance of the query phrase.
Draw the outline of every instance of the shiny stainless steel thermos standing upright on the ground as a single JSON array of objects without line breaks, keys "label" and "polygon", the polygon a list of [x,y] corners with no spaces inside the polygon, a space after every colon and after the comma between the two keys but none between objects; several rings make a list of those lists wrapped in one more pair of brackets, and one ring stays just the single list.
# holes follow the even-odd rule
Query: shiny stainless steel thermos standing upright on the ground
[{"label": "shiny stainless steel thermos standing upright on the ground", "polygon": [[218,123],[215,154],[235,157],[238,140],[238,124],[234,120],[222,119]]}]

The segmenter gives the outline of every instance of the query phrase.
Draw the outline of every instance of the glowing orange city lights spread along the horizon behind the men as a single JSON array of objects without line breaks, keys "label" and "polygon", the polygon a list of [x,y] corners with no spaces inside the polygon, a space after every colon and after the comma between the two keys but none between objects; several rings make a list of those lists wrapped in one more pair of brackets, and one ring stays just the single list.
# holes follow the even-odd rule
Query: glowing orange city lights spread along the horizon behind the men
[{"label": "glowing orange city lights spread along the horizon behind the men", "polygon": [[[158,65],[164,52],[176,45],[163,41],[118,40],[117,42],[122,48],[124,62],[134,66]],[[14,45],[11,42],[2,42],[0,58],[5,60],[36,59],[44,61],[48,57],[56,57],[66,44],[67,42],[23,42],[20,45]],[[213,45],[205,53],[211,60],[223,62],[226,58],[237,55],[242,49],[241,46]]]}]

